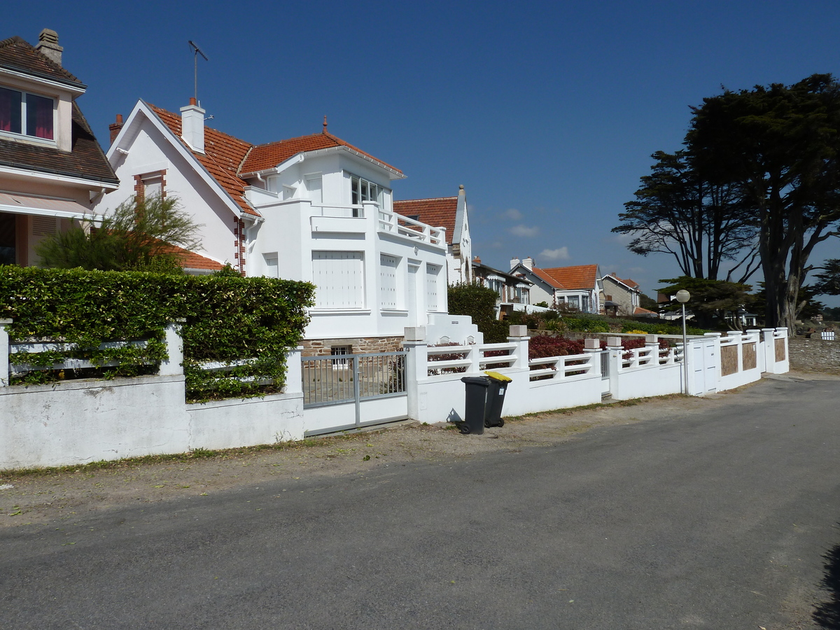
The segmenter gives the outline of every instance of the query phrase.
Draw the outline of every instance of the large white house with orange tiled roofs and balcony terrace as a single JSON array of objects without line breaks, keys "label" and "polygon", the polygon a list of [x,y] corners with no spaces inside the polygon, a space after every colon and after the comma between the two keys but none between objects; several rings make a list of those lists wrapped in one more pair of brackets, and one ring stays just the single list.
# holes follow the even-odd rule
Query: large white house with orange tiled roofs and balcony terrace
[{"label": "large white house with orange tiled roofs and balcony terrace", "polygon": [[117,192],[175,195],[203,225],[194,272],[311,281],[306,354],[397,349],[404,328],[447,312],[446,235],[393,213],[402,171],[328,132],[251,144],[211,129],[194,98],[172,113],[142,100],[111,125]]}]

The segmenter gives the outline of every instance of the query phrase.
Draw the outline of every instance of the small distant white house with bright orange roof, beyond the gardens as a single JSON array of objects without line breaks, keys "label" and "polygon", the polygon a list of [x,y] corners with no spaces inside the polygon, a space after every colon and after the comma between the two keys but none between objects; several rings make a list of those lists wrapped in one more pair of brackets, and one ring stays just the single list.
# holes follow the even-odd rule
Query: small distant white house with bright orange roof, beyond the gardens
[{"label": "small distant white house with bright orange roof, beyond the gardens", "polygon": [[546,302],[549,307],[564,307],[589,313],[601,312],[601,270],[598,265],[538,268],[533,258],[511,260],[512,276],[533,283],[533,304]]}]

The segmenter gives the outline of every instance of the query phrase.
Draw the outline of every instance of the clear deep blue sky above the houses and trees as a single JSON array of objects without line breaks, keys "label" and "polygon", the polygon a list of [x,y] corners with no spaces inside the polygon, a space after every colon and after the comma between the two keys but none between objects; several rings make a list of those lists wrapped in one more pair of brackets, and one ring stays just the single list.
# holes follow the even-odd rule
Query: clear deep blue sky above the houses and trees
[{"label": "clear deep blue sky above the houses and trees", "polygon": [[[37,10],[33,10],[37,8]],[[142,97],[261,143],[329,130],[396,165],[397,199],[464,184],[473,252],[505,269],[598,263],[653,294],[678,271],[611,234],[690,105],[840,74],[837,2],[11,3],[0,39],[55,29],[102,144]],[[815,262],[840,256],[840,241]],[[828,298],[840,305],[840,298]]]}]

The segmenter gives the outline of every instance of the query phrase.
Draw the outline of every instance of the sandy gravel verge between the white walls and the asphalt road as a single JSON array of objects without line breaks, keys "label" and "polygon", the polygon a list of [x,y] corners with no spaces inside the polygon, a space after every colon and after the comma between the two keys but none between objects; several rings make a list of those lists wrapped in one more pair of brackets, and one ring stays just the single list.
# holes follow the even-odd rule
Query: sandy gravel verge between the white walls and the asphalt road
[{"label": "sandy gravel verge between the white walls and the asphalt road", "polygon": [[[789,375],[774,378],[840,379],[840,342],[791,339]],[[509,418],[482,436],[453,425],[402,423],[365,433],[307,439],[274,447],[232,449],[212,456],[124,460],[61,470],[0,472],[0,527],[73,522],[81,515],[129,503],[208,496],[304,476],[364,475],[375,466],[443,462],[488,452],[518,452],[575,439],[591,428],[675,414],[707,413],[738,390],[703,398],[661,396],[589,408]]]}]

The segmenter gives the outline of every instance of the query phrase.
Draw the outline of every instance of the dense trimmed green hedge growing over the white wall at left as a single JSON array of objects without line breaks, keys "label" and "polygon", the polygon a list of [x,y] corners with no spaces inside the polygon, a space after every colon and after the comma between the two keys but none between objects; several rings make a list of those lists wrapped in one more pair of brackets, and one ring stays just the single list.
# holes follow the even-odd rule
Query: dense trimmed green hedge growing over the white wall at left
[{"label": "dense trimmed green hedge growing over the white wall at left", "polygon": [[[0,265],[0,318],[13,319],[10,338],[71,346],[66,352],[30,354],[25,362],[46,366],[83,358],[103,365],[120,360],[125,365],[102,370],[102,375],[153,373],[166,358],[166,324],[185,319],[181,336],[188,400],[259,396],[281,389],[286,349],[302,338],[313,292],[307,282],[270,278]],[[99,349],[114,340],[147,344]],[[243,359],[255,361],[228,372],[198,366],[202,361]],[[48,377],[60,374],[34,372],[23,381]]]}]

